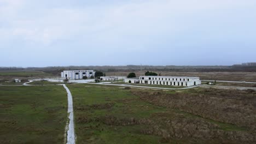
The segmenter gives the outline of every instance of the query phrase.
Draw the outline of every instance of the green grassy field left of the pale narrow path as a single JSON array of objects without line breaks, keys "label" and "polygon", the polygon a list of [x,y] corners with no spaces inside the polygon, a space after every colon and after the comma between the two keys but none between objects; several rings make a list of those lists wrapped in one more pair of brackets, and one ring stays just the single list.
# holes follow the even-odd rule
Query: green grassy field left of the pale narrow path
[{"label": "green grassy field left of the pale narrow path", "polygon": [[0,143],[63,143],[66,122],[62,86],[0,86]]}]

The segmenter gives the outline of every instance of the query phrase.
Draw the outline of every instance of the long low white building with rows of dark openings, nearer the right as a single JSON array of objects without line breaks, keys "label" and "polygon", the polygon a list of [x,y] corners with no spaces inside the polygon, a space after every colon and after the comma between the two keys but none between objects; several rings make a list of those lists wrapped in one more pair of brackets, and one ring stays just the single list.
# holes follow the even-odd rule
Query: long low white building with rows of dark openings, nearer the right
[{"label": "long low white building with rows of dark openings, nearer the right", "polygon": [[151,85],[170,85],[170,86],[195,86],[201,85],[199,77],[188,76],[139,76],[139,78],[125,79],[129,83],[146,83]]}]

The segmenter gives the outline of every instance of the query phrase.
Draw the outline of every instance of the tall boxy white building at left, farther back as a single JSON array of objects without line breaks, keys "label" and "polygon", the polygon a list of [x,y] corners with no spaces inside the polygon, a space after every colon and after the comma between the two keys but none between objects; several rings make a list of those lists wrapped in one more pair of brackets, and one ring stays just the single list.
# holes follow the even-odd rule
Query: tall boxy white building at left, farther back
[{"label": "tall boxy white building at left, farther back", "polygon": [[64,70],[61,72],[61,77],[71,80],[83,79],[84,76],[87,76],[88,79],[91,76],[95,76],[94,70]]}]

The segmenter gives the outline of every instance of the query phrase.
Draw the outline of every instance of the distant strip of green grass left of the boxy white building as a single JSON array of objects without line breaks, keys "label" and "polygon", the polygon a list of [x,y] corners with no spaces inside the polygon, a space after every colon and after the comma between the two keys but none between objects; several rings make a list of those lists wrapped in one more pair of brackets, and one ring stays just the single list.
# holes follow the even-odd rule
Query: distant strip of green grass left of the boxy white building
[{"label": "distant strip of green grass left of the boxy white building", "polygon": [[0,71],[0,76],[33,77],[33,76],[52,76],[43,71]]}]

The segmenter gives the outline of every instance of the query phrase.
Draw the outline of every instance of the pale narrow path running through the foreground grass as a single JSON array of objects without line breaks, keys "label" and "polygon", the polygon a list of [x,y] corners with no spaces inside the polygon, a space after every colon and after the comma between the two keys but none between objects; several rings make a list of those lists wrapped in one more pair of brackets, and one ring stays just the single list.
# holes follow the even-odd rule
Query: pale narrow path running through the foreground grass
[{"label": "pale narrow path running through the foreground grass", "polygon": [[73,144],[75,143],[75,135],[74,135],[74,113],[73,113],[73,100],[72,100],[72,94],[69,91],[68,87],[66,85],[63,85],[63,87],[67,91],[68,95],[68,129],[67,129],[67,143]]}]

